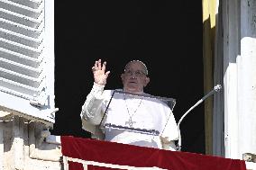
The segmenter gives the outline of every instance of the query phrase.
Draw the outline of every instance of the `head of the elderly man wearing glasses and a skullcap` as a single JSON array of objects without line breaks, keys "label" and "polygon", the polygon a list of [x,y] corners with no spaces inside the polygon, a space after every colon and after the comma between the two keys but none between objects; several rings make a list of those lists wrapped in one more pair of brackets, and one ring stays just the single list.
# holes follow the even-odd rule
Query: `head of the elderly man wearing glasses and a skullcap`
[{"label": "head of the elderly man wearing glasses and a skullcap", "polygon": [[150,82],[150,78],[146,76],[146,68],[139,61],[129,63],[121,78],[123,91],[134,94],[142,93],[143,88]]}]

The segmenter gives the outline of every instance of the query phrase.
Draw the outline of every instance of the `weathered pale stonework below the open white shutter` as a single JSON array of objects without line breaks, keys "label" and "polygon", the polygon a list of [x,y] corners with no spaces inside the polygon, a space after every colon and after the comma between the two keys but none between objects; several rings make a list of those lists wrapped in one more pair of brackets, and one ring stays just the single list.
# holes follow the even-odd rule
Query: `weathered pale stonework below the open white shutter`
[{"label": "weathered pale stonework below the open white shutter", "polygon": [[0,170],[61,170],[60,143],[41,122],[0,112]]}]

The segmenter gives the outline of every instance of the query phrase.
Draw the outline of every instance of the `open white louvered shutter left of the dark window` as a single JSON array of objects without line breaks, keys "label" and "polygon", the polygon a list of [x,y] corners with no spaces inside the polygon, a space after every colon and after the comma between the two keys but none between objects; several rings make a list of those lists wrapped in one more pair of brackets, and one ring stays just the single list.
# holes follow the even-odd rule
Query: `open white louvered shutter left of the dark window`
[{"label": "open white louvered shutter left of the dark window", "polygon": [[54,1],[0,0],[0,106],[54,122]]}]

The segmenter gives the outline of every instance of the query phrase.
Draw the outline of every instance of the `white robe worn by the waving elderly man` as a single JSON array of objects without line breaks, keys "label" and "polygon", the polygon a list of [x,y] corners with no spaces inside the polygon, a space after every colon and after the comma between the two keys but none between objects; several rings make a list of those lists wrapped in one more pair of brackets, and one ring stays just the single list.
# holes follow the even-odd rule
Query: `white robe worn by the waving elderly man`
[{"label": "white robe worn by the waving elderly man", "polygon": [[[178,139],[178,127],[166,103],[154,98],[114,93],[106,110],[113,92],[113,90],[104,90],[102,85],[94,84],[80,114],[84,130],[96,136],[103,132],[104,136],[96,137],[97,139],[141,147],[176,150],[173,140]],[[102,120],[104,112],[105,119]],[[96,126],[101,121],[101,127]],[[104,126],[109,123],[124,127],[124,129],[109,129]],[[125,128],[154,130],[158,131],[159,135],[125,130]],[[96,129],[101,129],[101,131]]]}]

